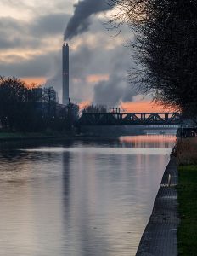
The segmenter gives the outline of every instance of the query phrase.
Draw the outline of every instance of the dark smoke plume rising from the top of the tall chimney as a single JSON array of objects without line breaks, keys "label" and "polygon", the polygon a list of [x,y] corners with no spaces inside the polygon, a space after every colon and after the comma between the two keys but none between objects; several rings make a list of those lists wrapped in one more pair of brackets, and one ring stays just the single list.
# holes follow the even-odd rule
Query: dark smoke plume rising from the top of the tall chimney
[{"label": "dark smoke plume rising from the top of the tall chimney", "polygon": [[65,40],[86,32],[91,24],[90,16],[112,9],[107,0],[83,0],[75,5],[74,15],[69,20],[65,30]]}]

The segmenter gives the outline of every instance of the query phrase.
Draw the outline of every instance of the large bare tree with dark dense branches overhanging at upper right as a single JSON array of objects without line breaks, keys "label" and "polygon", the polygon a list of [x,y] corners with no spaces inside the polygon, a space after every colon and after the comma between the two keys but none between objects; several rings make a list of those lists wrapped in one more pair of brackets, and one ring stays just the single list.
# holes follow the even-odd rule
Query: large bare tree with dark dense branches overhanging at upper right
[{"label": "large bare tree with dark dense branches overhanging at upper right", "polygon": [[195,0],[109,0],[115,15],[109,25],[127,23],[136,33],[131,43],[138,70],[132,84],[155,100],[197,116],[197,3]]}]

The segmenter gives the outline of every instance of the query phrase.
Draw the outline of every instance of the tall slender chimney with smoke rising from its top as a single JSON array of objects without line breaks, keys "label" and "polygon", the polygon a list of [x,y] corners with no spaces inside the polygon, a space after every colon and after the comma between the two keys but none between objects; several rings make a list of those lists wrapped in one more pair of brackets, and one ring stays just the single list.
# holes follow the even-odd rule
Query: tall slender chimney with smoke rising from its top
[{"label": "tall slender chimney with smoke rising from its top", "polygon": [[64,105],[69,104],[69,44],[63,44],[62,46],[62,103]]}]

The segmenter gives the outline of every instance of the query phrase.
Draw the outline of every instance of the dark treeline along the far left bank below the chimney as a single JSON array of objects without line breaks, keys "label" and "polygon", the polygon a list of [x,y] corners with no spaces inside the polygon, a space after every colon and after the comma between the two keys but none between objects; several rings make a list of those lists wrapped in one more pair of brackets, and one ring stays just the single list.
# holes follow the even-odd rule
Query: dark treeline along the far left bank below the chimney
[{"label": "dark treeline along the far left bank below the chimney", "polygon": [[0,77],[1,131],[70,131],[78,113],[76,104],[59,104],[52,87],[29,87],[20,79]]}]

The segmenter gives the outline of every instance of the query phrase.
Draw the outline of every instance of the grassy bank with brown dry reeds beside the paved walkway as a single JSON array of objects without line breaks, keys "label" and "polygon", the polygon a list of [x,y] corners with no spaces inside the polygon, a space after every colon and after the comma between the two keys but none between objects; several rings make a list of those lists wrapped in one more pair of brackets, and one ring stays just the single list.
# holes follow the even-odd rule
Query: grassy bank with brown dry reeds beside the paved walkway
[{"label": "grassy bank with brown dry reeds beside the paved walkway", "polygon": [[181,218],[177,232],[178,255],[197,255],[197,138],[177,140],[178,211]]}]

